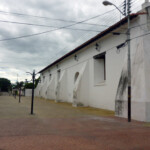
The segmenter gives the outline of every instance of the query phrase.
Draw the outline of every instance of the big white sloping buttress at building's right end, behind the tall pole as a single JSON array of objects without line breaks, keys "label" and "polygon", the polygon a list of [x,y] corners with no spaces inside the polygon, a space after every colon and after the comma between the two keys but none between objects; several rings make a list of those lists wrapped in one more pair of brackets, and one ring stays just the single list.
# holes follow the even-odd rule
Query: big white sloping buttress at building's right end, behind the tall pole
[{"label": "big white sloping buttress at building's right end, behind the tall pole", "polygon": [[[139,121],[150,121],[150,30],[146,24],[147,14],[140,15],[136,21],[131,24],[131,118]],[[144,24],[141,25],[140,24]],[[137,26],[139,25],[139,26]],[[132,28],[137,26],[135,28]],[[140,37],[139,37],[140,36]],[[136,38],[138,37],[138,38]],[[124,60],[122,75],[127,75],[127,57]],[[116,100],[120,101],[120,110],[117,109],[117,115],[127,118],[128,101],[127,101],[127,85],[123,94],[118,93]],[[121,96],[120,96],[121,95]]]}]

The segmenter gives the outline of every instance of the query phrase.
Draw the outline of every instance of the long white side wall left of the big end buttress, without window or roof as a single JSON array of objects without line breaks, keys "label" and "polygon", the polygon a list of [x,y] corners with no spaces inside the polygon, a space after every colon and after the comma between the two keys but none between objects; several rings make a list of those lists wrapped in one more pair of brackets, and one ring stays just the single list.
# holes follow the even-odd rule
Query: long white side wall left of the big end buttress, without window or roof
[{"label": "long white side wall left of the big end buttress, without window or roof", "polygon": [[[41,74],[41,83],[36,89],[37,96],[47,99],[55,99],[67,102],[82,103],[85,106],[114,110],[115,96],[119,77],[124,64],[126,49],[116,52],[116,46],[123,43],[125,35],[108,36],[99,40],[100,52],[95,49],[95,43],[89,45],[79,53],[78,61],[74,55],[53,66]],[[106,81],[95,83],[94,81],[94,58],[106,51]],[[96,66],[96,70],[98,66]],[[57,79],[57,70],[61,69],[60,80]],[[79,81],[75,83],[75,75],[79,72]],[[51,80],[49,75],[51,74]],[[45,76],[45,81],[43,81]],[[39,90],[38,90],[39,89]],[[39,92],[40,91],[40,94]],[[47,94],[46,94],[47,91]],[[61,94],[60,94],[61,93]],[[77,98],[74,98],[77,95]]]}]

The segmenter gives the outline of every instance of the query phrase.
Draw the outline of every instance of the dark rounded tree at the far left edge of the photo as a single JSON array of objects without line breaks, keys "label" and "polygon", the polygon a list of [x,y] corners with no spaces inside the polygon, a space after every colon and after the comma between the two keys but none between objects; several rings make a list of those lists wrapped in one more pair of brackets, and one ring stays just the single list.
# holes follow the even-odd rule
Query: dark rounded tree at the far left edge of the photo
[{"label": "dark rounded tree at the far left edge of the photo", "polygon": [[0,78],[0,91],[8,92],[11,90],[11,82],[6,78]]}]

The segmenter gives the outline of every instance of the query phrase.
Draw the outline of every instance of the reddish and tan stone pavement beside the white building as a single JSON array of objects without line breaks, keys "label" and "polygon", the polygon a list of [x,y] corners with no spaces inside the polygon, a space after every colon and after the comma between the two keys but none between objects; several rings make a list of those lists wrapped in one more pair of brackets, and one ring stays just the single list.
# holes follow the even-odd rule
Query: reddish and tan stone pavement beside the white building
[{"label": "reddish and tan stone pavement beside the white building", "polygon": [[150,125],[67,103],[0,97],[0,150],[150,150]]}]

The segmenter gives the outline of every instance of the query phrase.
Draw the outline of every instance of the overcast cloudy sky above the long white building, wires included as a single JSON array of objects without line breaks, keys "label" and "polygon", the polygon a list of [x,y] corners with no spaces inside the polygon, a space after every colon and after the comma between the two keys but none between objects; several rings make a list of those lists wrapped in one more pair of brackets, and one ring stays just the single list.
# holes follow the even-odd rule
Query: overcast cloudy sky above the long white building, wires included
[{"label": "overcast cloudy sky above the long white building, wires included", "polygon": [[[0,78],[31,80],[59,57],[123,16],[103,0],[1,0]],[[123,10],[124,0],[110,0]],[[132,12],[144,0],[132,0]],[[81,23],[82,22],[82,23]]]}]

